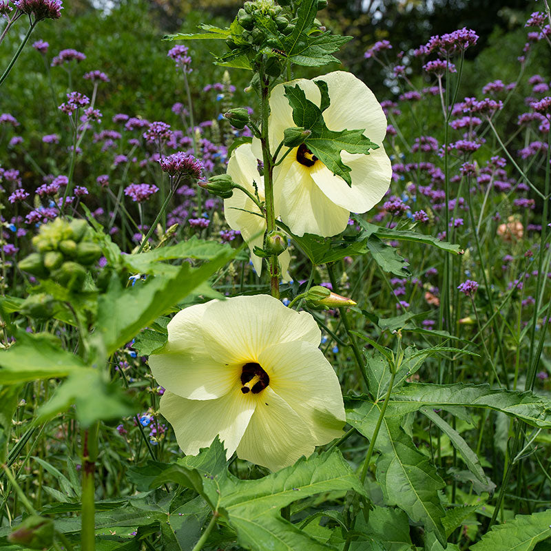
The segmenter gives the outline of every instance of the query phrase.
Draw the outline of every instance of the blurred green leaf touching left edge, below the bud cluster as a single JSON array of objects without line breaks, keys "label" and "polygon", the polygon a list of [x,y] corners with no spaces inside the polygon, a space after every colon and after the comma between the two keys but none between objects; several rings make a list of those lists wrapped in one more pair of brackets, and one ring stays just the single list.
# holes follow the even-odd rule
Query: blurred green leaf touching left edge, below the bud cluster
[{"label": "blurred green leaf touching left edge, below the bud cluster", "polygon": [[19,331],[17,342],[0,352],[0,384],[67,377],[85,371],[82,360],[59,346],[55,337]]}]

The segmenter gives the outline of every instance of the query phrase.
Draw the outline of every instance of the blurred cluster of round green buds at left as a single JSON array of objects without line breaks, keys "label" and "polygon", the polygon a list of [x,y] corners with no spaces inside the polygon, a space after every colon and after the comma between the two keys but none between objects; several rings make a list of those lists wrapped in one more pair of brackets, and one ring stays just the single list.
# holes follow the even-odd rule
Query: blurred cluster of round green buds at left
[{"label": "blurred cluster of round green buds at left", "polygon": [[70,291],[81,291],[87,268],[101,257],[85,220],[67,222],[56,218],[41,226],[32,238],[37,252],[19,262],[21,270],[39,278],[52,278]]}]

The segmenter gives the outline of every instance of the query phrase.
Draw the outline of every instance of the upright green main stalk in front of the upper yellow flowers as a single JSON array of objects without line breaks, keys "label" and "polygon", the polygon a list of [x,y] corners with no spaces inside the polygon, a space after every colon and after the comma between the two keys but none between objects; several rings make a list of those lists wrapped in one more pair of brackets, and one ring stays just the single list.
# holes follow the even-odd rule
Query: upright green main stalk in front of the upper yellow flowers
[{"label": "upright green main stalk in front of the upper yellow flowers", "polygon": [[[260,90],[261,90],[261,117],[262,127],[260,129],[260,143],[262,144],[262,161],[264,162],[264,200],[266,210],[266,231],[270,233],[275,229],[275,209],[273,205],[273,160],[270,153],[268,117],[270,114],[269,96],[269,77],[264,75],[260,69]],[[271,256],[269,259],[270,271],[270,292],[275,298],[280,298],[280,278],[278,256]]]}]

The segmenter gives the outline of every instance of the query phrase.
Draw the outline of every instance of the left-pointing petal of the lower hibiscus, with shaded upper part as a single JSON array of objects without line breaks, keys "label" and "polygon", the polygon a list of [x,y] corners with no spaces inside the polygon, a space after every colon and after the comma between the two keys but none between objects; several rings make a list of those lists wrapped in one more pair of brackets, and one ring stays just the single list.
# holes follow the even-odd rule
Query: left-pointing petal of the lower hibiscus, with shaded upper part
[{"label": "left-pointing petal of the lower hibiscus, with shaded upper part", "polygon": [[[168,341],[149,356],[149,367],[158,384],[172,393],[194,400],[210,400],[239,385],[241,364],[213,360],[205,348],[201,320],[207,304],[179,311],[167,326]],[[212,344],[216,349],[216,344]],[[219,347],[219,346],[218,346]],[[212,350],[212,348],[211,348]]]}]

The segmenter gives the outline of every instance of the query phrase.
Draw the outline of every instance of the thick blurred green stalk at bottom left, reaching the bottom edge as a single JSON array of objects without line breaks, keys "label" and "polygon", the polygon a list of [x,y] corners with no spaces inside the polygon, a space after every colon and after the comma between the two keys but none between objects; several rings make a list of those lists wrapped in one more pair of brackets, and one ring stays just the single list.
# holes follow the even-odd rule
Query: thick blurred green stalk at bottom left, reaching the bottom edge
[{"label": "thick blurred green stalk at bottom left, reaching the bottom edge", "polygon": [[95,551],[96,525],[94,520],[94,472],[98,458],[98,422],[83,432],[81,550]]}]

